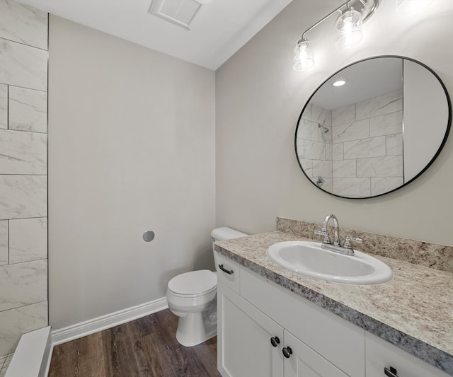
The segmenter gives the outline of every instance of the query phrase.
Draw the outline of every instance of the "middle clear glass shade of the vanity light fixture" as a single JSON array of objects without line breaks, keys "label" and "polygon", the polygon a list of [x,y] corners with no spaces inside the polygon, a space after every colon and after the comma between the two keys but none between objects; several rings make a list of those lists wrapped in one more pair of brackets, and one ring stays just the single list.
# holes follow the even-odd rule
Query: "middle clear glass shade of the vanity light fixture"
[{"label": "middle clear glass shade of the vanity light fixture", "polygon": [[362,14],[352,7],[346,9],[335,23],[336,47],[348,48],[357,45],[362,38]]}]

